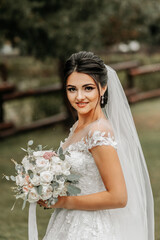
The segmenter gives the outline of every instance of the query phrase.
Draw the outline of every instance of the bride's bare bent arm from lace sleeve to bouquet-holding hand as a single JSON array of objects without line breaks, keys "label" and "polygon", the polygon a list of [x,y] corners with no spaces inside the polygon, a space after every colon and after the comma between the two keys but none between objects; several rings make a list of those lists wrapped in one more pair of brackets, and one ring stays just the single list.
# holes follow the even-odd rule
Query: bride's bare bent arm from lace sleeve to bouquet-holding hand
[{"label": "bride's bare bent arm from lace sleeve to bouquet-holding hand", "polygon": [[127,204],[126,184],[117,151],[112,146],[90,150],[107,191],[82,196],[59,197],[53,208],[103,210],[122,208]]}]

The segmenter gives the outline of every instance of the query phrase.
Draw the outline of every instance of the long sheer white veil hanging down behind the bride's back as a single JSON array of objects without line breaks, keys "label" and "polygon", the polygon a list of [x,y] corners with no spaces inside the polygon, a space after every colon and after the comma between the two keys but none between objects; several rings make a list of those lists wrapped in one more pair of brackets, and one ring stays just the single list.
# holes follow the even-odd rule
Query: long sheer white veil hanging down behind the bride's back
[{"label": "long sheer white veil hanging down behind the bride's back", "polygon": [[154,202],[149,174],[125,93],[116,72],[108,72],[108,103],[104,109],[113,127],[125,177],[128,203],[110,210],[119,240],[154,240]]}]

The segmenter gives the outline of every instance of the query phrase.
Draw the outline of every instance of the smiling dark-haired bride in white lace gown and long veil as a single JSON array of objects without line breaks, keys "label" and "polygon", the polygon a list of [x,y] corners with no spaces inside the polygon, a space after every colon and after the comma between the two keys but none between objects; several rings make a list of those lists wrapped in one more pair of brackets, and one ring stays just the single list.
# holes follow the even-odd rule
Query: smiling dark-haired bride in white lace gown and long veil
[{"label": "smiling dark-haired bride in white lace gown and long veil", "polygon": [[66,61],[64,80],[78,121],[60,146],[81,174],[81,194],[51,206],[43,240],[154,240],[147,166],[115,71],[93,53],[78,52]]}]

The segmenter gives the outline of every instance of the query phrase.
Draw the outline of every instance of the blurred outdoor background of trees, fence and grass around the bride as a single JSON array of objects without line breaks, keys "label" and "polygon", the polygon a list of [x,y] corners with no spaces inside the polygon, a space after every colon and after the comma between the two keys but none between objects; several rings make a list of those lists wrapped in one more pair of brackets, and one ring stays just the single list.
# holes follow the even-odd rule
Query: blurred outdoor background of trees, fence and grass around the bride
[{"label": "blurred outdoor background of trees, fence and grass around the bride", "polygon": [[[160,0],[0,1],[0,176],[14,175],[27,141],[58,148],[73,123],[63,66],[92,51],[118,73],[151,179],[160,240]],[[26,240],[28,205],[11,211],[12,183],[0,180],[0,239]],[[51,211],[37,209],[39,239]]]}]

